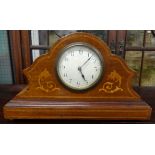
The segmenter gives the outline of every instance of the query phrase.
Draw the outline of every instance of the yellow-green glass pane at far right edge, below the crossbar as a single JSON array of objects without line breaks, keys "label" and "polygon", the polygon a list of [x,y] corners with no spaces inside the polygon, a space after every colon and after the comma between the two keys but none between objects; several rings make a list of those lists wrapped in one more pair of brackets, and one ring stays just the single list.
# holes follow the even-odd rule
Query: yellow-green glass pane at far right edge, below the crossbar
[{"label": "yellow-green glass pane at far right edge, below the crossbar", "polygon": [[142,86],[155,86],[155,51],[144,53]]}]

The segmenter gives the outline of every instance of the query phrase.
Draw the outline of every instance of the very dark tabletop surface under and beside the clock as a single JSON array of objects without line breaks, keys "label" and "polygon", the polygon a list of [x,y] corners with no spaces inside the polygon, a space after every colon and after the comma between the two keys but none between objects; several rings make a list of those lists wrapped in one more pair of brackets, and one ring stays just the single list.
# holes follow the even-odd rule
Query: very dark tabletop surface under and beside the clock
[{"label": "very dark tabletop surface under and beside the clock", "polygon": [[0,85],[0,124],[152,124],[155,123],[155,87],[135,88],[137,93],[152,107],[149,121],[103,121],[103,120],[5,120],[3,106],[25,85]]}]

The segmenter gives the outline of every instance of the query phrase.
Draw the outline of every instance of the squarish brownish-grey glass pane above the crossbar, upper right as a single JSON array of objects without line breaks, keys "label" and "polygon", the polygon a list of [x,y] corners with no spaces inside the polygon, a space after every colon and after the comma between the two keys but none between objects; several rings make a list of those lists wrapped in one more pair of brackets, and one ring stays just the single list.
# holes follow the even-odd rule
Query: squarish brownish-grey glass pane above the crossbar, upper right
[{"label": "squarish brownish-grey glass pane above the crossbar, upper right", "polygon": [[144,31],[141,30],[127,31],[126,46],[127,47],[143,46],[143,37],[144,37]]}]

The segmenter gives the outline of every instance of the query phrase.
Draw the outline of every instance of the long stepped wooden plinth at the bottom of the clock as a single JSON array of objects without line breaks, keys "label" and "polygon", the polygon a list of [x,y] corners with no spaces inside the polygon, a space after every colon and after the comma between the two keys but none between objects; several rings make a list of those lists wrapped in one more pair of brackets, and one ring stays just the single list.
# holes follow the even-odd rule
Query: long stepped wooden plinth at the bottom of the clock
[{"label": "long stepped wooden plinth at the bottom of the clock", "polygon": [[56,102],[11,100],[5,119],[149,120],[151,107],[144,101]]}]

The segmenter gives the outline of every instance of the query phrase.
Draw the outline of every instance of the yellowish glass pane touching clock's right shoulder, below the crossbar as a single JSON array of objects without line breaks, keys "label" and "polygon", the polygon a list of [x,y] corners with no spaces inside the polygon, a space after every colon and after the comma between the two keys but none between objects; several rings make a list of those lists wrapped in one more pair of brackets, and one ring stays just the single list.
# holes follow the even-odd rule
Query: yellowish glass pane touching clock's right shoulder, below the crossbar
[{"label": "yellowish glass pane touching clock's right shoulder, below the crossbar", "polygon": [[138,86],[139,76],[140,76],[140,66],[141,66],[141,51],[127,51],[125,56],[125,61],[128,66],[136,71],[137,76],[133,79],[133,85]]}]

